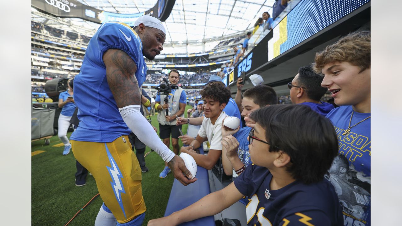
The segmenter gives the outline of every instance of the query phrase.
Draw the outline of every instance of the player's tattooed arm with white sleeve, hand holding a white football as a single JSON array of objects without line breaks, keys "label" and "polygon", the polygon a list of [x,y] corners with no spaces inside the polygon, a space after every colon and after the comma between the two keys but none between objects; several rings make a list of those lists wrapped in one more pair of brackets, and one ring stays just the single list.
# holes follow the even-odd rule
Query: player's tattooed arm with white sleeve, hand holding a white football
[{"label": "player's tattooed arm with white sleeve, hand holding a white football", "polygon": [[184,173],[187,177],[192,177],[183,159],[166,147],[158,137],[158,134],[156,134],[154,128],[152,128],[152,125],[140,113],[141,93],[137,78],[135,78],[137,65],[133,59],[124,51],[109,49],[103,54],[103,62],[106,66],[107,83],[113,93],[121,117],[129,129],[146,146],[155,150],[163,160],[168,162],[174,177],[178,181],[183,185],[195,182],[197,179],[187,179],[183,175]]}]

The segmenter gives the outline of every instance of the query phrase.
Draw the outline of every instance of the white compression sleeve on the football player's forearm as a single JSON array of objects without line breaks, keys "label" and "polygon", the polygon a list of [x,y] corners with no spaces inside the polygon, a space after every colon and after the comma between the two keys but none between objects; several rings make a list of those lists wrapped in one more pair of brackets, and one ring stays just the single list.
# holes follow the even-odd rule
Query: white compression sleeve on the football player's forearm
[{"label": "white compression sleeve on the football player's forearm", "polygon": [[119,108],[119,111],[124,122],[133,131],[135,136],[146,146],[158,153],[163,160],[170,162],[174,157],[174,152],[160,140],[152,125],[141,114],[140,108],[141,106],[139,105],[129,105]]}]

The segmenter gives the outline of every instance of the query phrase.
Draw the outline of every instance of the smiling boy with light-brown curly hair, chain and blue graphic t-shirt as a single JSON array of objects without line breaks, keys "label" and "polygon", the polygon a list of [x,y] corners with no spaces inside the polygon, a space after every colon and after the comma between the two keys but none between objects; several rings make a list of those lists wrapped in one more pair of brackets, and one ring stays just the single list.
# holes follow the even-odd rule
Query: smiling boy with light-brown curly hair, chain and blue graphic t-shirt
[{"label": "smiling boy with light-brown curly hair, chain and blue graphic t-shirt", "polygon": [[[326,116],[338,136],[338,154],[327,179],[336,188],[344,225],[370,225],[370,31],[351,33],[318,52],[314,70],[324,75],[339,105]],[[347,160],[347,166],[340,164]]]}]

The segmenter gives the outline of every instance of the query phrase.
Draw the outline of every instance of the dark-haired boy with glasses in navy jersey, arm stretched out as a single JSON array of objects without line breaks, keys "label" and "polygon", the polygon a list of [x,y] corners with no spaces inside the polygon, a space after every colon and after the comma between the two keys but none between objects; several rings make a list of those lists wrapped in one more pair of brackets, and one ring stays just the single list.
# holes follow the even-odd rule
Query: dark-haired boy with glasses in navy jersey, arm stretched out
[{"label": "dark-haired boy with glasses in navy jersey, arm stretched out", "polygon": [[[335,189],[324,179],[338,152],[331,122],[303,105],[262,107],[250,117],[256,122],[249,137],[254,164],[224,189],[148,226],[211,216],[245,195],[249,226],[343,224]],[[306,131],[309,136],[301,136]]]}]

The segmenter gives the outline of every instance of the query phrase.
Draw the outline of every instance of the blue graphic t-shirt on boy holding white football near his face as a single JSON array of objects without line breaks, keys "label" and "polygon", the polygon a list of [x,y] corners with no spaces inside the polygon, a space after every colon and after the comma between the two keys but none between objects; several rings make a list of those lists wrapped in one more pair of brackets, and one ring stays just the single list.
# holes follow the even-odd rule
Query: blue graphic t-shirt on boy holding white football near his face
[{"label": "blue graphic t-shirt on boy holding white football near his face", "polygon": [[[250,134],[251,127],[243,127],[233,136],[239,142],[239,148],[237,149],[237,155],[243,164],[247,167],[251,162],[250,152],[248,152],[248,145],[250,144],[247,140],[248,134]],[[236,178],[238,175],[233,170],[233,177]]]}]

